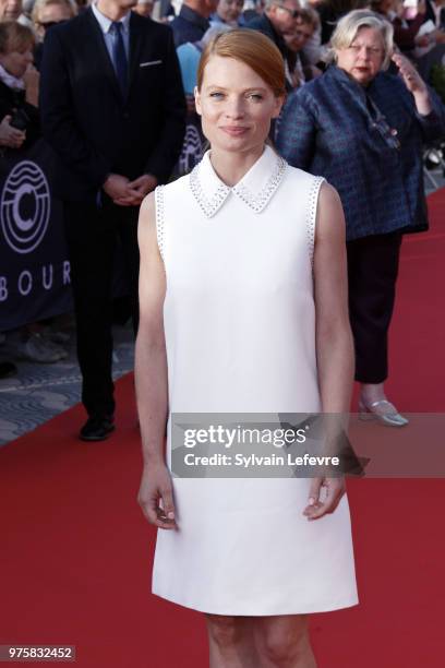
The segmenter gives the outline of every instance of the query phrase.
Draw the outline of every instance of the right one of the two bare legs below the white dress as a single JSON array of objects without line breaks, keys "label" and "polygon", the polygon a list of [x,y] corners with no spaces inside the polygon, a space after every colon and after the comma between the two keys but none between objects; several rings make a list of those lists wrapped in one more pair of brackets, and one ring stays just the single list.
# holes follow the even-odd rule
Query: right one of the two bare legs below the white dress
[{"label": "right one of the two bare legs below the white dress", "polygon": [[305,615],[251,618],[258,668],[316,668]]}]

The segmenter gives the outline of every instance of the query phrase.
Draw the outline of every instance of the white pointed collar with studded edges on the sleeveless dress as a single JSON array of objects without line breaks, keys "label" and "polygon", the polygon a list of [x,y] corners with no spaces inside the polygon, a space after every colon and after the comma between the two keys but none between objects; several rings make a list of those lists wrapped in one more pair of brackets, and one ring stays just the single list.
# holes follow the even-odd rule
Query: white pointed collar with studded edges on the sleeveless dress
[{"label": "white pointed collar with studded edges on the sleeveless dress", "polygon": [[190,188],[207,218],[212,218],[219,211],[230,194],[239,198],[255,213],[261,213],[282,181],[286,168],[286,160],[266,145],[256,163],[236,186],[230,188],[215,172],[211,163],[211,152],[207,151],[190,174]]}]

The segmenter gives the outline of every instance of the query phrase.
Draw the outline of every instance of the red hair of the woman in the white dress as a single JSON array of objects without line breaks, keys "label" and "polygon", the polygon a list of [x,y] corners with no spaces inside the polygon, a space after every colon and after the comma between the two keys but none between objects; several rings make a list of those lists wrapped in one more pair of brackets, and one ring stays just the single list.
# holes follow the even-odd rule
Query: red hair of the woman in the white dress
[{"label": "red hair of the woman in the white dress", "polygon": [[201,91],[204,70],[212,58],[234,58],[251,68],[280,97],[286,94],[285,61],[275,44],[262,33],[250,28],[233,28],[217,35],[205,47],[197,69]]}]

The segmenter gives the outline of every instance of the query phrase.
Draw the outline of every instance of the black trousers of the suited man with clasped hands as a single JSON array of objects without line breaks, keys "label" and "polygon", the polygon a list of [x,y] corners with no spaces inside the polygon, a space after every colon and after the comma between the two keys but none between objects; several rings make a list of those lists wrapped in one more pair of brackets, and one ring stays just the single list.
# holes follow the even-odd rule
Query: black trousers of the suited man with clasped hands
[{"label": "black trousers of the suited man with clasped hands", "polygon": [[[139,324],[139,206],[65,202],[64,224],[77,326],[82,402],[89,416],[115,411],[111,288],[117,248],[124,255],[134,331]],[[119,246],[118,246],[119,243]]]}]

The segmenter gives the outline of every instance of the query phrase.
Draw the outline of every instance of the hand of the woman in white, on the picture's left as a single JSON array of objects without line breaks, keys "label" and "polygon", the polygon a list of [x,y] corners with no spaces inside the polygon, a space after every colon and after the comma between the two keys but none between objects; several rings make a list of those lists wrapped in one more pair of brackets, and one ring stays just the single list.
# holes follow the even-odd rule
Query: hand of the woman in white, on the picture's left
[{"label": "hand of the woman in white, on the picture's left", "polygon": [[170,472],[163,461],[145,464],[137,501],[151,524],[165,529],[178,528]]}]

